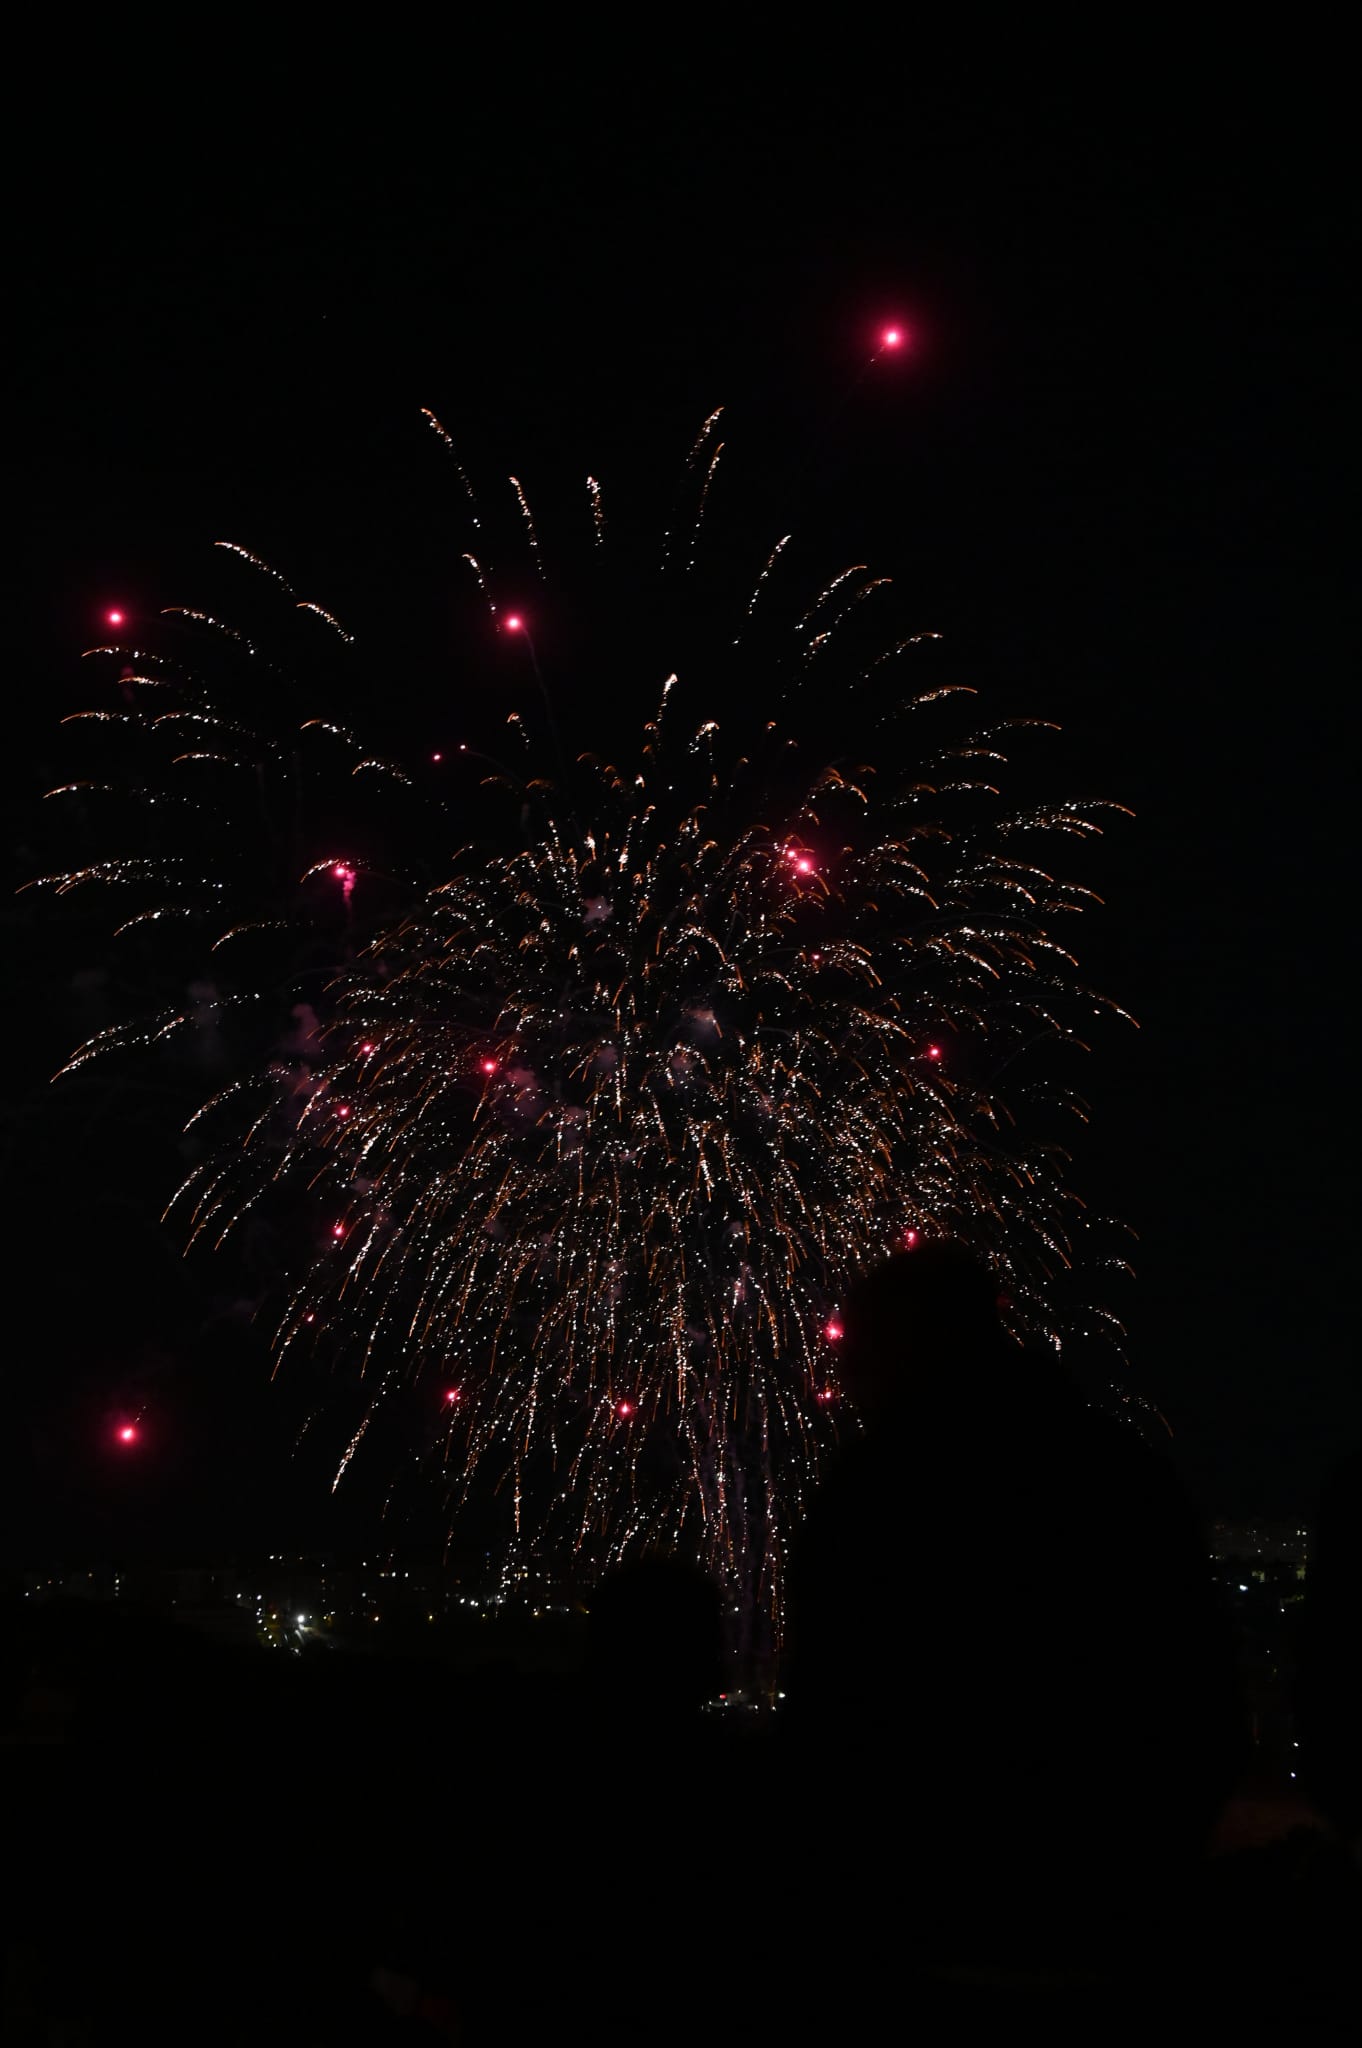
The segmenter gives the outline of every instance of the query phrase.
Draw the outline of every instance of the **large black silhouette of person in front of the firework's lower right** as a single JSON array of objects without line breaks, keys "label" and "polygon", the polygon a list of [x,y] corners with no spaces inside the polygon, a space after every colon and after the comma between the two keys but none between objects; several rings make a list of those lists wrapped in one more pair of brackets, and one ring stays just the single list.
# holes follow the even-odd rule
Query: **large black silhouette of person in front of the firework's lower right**
[{"label": "large black silhouette of person in front of the firework's lower right", "polygon": [[[793,1767],[836,1788],[842,1942],[1100,1972],[1147,1942],[1233,1782],[1233,1657],[1172,1470],[997,1309],[948,1241],[846,1305],[864,1434],[791,1563]],[[899,1896],[868,1878],[887,1841]]]}]

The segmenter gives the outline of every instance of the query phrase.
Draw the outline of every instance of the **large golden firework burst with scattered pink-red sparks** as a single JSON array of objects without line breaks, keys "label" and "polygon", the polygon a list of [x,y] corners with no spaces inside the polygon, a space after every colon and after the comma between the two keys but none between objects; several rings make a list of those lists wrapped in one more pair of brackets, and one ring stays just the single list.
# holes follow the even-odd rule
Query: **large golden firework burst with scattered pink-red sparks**
[{"label": "large golden firework burst with scattered pink-red sparks", "polygon": [[[336,1477],[385,1395],[428,1374],[455,1493],[492,1468],[522,1536],[600,1561],[690,1550],[743,1614],[778,1618],[789,1530],[848,1421],[838,1305],[860,1270],[963,1235],[1018,1323],[1063,1335],[1053,1282],[1081,1208],[1028,1108],[1026,1055],[1112,1008],[1055,936],[1088,891],[1045,856],[1106,807],[1010,807],[1008,727],[956,721],[932,741],[934,707],[969,692],[913,682],[936,635],[875,637],[887,580],[866,565],[793,600],[786,535],[739,575],[741,551],[719,549],[703,582],[717,420],[662,567],[641,582],[625,549],[631,598],[600,582],[616,518],[588,479],[594,580],[569,573],[559,618],[578,641],[614,621],[592,674],[629,670],[647,696],[619,743],[584,752],[565,745],[553,645],[545,678],[514,610],[526,547],[545,602],[555,588],[526,485],[510,479],[518,539],[498,573],[496,520],[459,469],[483,535],[465,557],[485,621],[469,678],[504,688],[479,674],[514,645],[535,694],[510,713],[510,764],[467,741],[449,760],[504,793],[506,829],[451,856],[485,801],[473,778],[436,799],[315,707],[262,723],[254,643],[178,612],[211,653],[193,670],[96,649],[123,709],[86,717],[141,754],[123,780],[53,795],[98,811],[100,791],[121,846],[43,881],[135,897],[123,932],[203,936],[211,983],[63,1071],[205,1018],[227,1034],[242,1071],[190,1120],[205,1151],[170,1212],[211,1243],[262,1206],[293,1217],[279,1354],[324,1346],[365,1386]],[[330,610],[227,547],[299,631],[350,647]],[[850,737],[829,758],[836,721]],[[309,825],[313,782],[387,793],[387,825],[342,827],[336,801]],[[1053,1077],[1047,1094],[1063,1100]]]}]

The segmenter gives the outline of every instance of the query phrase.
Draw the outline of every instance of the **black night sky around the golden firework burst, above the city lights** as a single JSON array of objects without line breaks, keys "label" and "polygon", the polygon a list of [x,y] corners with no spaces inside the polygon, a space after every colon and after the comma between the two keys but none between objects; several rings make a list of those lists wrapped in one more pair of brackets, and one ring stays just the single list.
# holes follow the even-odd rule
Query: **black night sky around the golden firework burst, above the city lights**
[{"label": "black night sky around the golden firework burst, above the city lights", "polygon": [[[868,551],[973,680],[1063,719],[1071,786],[1139,813],[1094,862],[1083,950],[1143,1030],[1083,1077],[1079,1180],[1139,1231],[1133,1378],[1202,1505],[1309,1513],[1362,1432],[1327,567],[1348,178],[1313,82],[1264,59],[1122,90],[838,66],[795,88],[715,63],[616,94],[563,63],[506,90],[377,84],[360,57],[53,90],[10,315],[16,881],[100,606],[195,602],[219,537],[344,598],[410,707],[434,700],[416,408],[528,477],[676,463],[719,401],[772,477],[809,442],[834,565]],[[911,360],[842,408],[885,313]],[[6,1542],[233,1540],[244,1497],[289,1497],[297,1397],[242,1331],[205,1335],[213,1280],[154,1223],[162,1106],[47,1092],[96,952],[31,903],[8,911]],[[156,1481],[107,1470],[131,1399],[162,1417]]]}]

